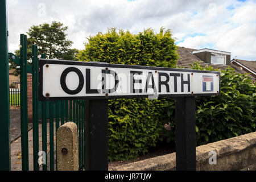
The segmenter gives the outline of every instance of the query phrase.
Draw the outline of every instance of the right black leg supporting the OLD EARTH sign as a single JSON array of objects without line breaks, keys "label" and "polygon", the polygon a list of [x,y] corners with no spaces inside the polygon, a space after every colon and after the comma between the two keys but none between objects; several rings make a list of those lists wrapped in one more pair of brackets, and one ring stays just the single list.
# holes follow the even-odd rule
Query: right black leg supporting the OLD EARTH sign
[{"label": "right black leg supporting the OLD EARTH sign", "polygon": [[196,118],[195,97],[177,97],[176,121],[176,170],[196,170]]}]

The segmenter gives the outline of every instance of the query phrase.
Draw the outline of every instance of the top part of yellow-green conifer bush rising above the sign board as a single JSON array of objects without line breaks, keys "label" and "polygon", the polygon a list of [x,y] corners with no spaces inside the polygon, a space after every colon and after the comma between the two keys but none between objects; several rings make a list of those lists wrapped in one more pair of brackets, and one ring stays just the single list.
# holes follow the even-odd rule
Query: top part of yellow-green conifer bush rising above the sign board
[{"label": "top part of yellow-green conifer bush rising above the sign board", "polygon": [[144,65],[153,67],[175,67],[177,54],[171,31],[155,34],[151,29],[133,35],[110,28],[106,34],[90,36],[85,50],[77,58],[115,64]]}]

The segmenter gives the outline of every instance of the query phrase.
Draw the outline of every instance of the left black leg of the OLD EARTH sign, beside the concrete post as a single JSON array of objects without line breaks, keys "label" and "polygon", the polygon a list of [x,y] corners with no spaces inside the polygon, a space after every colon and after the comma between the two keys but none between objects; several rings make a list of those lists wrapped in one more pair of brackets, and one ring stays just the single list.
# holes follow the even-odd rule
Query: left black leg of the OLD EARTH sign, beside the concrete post
[{"label": "left black leg of the OLD EARTH sign, beside the concrete post", "polygon": [[108,171],[108,100],[85,100],[85,170]]}]

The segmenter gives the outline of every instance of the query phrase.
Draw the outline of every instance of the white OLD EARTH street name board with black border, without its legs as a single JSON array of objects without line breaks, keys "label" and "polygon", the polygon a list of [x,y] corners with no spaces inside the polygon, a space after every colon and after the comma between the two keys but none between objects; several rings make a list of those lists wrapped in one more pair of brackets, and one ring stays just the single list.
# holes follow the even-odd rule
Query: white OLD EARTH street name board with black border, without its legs
[{"label": "white OLD EARTH street name board with black border, without its legs", "polygon": [[39,100],[220,94],[220,73],[97,62],[39,60]]}]

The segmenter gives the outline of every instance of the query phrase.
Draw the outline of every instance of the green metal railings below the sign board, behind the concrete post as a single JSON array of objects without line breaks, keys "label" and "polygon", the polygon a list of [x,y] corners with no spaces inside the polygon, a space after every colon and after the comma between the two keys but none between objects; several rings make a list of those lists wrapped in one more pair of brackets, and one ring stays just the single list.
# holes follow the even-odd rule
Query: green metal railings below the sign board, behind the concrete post
[{"label": "green metal railings below the sign board, behind the concrete post", "polygon": [[[42,164],[43,171],[48,169],[57,170],[56,156],[56,132],[65,122],[75,122],[77,125],[78,143],[79,143],[79,170],[84,169],[84,101],[47,101],[42,104],[42,150],[46,151],[46,163]],[[39,104],[39,105],[40,105]],[[48,106],[47,106],[48,105]],[[47,117],[47,113],[49,114]],[[48,125],[47,125],[48,123]],[[39,137],[38,137],[38,121],[33,123],[33,141],[34,141],[34,170],[39,170],[38,152],[39,152]],[[48,128],[49,127],[49,130]],[[54,130],[55,128],[55,130]],[[47,131],[49,131],[49,151],[47,151]],[[26,141],[27,142],[27,141]],[[49,155],[49,156],[48,156]],[[28,158],[26,157],[26,164]],[[49,160],[49,161],[48,161]],[[28,169],[28,165],[24,166]]]}]

